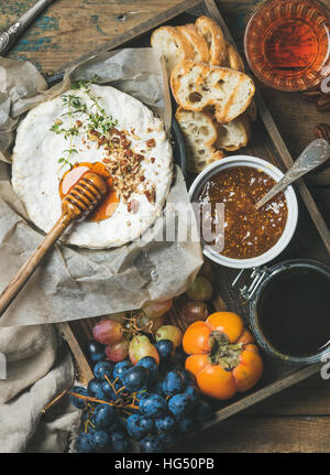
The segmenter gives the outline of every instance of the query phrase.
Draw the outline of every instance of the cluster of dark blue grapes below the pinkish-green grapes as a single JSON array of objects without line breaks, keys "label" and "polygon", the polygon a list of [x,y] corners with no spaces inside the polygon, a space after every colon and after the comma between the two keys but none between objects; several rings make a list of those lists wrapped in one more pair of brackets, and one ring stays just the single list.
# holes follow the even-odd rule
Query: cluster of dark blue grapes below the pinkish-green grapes
[{"label": "cluster of dark blue grapes below the pinkish-green grapes", "polygon": [[129,452],[132,441],[141,452],[163,452],[212,417],[195,377],[184,368],[182,347],[169,339],[158,339],[155,347],[160,364],[152,356],[135,365],[129,359],[114,364],[106,360],[103,345],[89,342],[95,378],[87,389],[70,391],[85,425],[76,440],[77,452]]}]

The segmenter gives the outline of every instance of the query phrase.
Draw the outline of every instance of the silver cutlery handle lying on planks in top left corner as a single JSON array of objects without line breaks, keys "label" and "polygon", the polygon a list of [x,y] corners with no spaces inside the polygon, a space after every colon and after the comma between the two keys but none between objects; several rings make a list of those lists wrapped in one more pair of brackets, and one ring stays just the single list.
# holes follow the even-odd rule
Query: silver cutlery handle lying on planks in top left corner
[{"label": "silver cutlery handle lying on planks in top left corner", "polygon": [[54,0],[38,0],[0,34],[0,56],[4,56],[33,20]]}]

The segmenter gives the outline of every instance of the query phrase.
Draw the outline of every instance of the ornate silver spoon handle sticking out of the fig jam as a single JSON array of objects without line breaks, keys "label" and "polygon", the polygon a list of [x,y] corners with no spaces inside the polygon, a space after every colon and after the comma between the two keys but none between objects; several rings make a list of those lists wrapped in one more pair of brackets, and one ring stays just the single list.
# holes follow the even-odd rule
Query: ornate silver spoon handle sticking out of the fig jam
[{"label": "ornate silver spoon handle sticking out of the fig jam", "polygon": [[305,173],[310,172],[329,159],[330,144],[327,142],[327,140],[314,140],[298,156],[295,163],[288,169],[279,182],[277,182],[276,185],[274,185],[268,191],[268,193],[266,193],[265,196],[256,203],[256,209],[265,205],[271,198],[285,190],[295,180],[300,179],[300,176],[305,175]]}]

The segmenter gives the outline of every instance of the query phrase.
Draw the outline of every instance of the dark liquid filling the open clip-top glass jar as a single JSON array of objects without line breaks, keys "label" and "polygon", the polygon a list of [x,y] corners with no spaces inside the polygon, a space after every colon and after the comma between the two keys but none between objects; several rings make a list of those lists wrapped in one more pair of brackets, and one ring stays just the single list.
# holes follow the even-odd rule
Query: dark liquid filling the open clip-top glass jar
[{"label": "dark liquid filling the open clip-top glass jar", "polygon": [[261,331],[279,353],[311,356],[330,346],[330,278],[294,268],[274,277],[257,309]]}]

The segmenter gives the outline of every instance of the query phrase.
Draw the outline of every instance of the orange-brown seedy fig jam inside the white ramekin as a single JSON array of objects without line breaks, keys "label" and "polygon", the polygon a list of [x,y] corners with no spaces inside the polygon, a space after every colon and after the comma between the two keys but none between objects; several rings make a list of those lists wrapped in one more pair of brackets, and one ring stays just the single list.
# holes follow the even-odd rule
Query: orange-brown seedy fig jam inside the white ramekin
[{"label": "orange-brown seedy fig jam inside the white ramekin", "polygon": [[211,204],[213,223],[216,205],[224,204],[224,236],[216,236],[218,245],[224,238],[222,256],[251,259],[270,250],[280,238],[286,220],[287,204],[278,193],[260,209],[255,204],[275,185],[275,180],[252,166],[233,166],[211,176],[204,185],[197,203],[200,208]]}]

